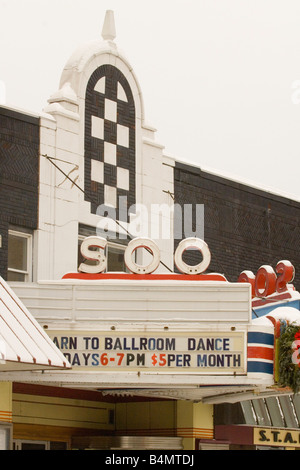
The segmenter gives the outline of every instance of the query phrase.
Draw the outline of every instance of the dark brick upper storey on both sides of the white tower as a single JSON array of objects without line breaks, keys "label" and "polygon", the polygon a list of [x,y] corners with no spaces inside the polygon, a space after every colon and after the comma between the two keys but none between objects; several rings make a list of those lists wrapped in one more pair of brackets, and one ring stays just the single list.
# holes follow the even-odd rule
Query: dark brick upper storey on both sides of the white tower
[{"label": "dark brick upper storey on both sides of the white tower", "polygon": [[[7,279],[9,230],[38,224],[39,118],[0,108],[0,275]],[[281,259],[296,269],[300,290],[300,203],[176,162],[175,203],[204,205],[210,271],[236,281],[244,270]],[[176,225],[176,223],[175,223]],[[175,248],[179,240],[175,240]],[[193,252],[189,262],[196,262]]]}]

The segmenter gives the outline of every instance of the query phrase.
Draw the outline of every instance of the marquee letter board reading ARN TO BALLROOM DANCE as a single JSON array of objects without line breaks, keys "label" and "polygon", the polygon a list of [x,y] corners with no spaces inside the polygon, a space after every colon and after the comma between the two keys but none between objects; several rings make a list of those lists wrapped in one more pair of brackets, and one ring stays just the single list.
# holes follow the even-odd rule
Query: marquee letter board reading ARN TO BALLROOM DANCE
[{"label": "marquee letter board reading ARN TO BALLROOM DANCE", "polygon": [[247,372],[244,332],[49,334],[73,368],[202,375]]}]

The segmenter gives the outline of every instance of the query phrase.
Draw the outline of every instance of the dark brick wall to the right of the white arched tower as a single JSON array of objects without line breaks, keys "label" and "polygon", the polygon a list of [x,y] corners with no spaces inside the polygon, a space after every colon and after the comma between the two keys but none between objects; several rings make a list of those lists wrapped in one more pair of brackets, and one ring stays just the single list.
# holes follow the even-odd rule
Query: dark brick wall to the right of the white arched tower
[{"label": "dark brick wall to the right of the white arched tower", "polygon": [[[300,203],[181,163],[176,163],[174,178],[177,204],[204,204],[210,271],[233,282],[246,269],[255,274],[263,264],[275,269],[278,261],[288,259],[300,290]],[[193,255],[189,262],[195,262]]]}]

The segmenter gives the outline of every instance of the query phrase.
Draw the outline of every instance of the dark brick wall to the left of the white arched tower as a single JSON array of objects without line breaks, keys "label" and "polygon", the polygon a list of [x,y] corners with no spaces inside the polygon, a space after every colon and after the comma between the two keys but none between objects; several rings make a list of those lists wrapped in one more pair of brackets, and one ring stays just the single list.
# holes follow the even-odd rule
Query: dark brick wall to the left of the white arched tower
[{"label": "dark brick wall to the left of the white arched tower", "polygon": [[0,275],[7,277],[8,229],[37,228],[39,119],[0,107]]}]

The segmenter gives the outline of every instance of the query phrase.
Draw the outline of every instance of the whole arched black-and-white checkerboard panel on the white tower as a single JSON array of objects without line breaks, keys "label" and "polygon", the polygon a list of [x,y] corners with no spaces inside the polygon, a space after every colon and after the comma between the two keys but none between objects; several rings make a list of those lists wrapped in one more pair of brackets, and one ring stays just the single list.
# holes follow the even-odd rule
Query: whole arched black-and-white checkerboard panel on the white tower
[{"label": "whole arched black-and-white checkerboard panel on the white tower", "polygon": [[116,67],[99,67],[85,104],[85,198],[92,213],[102,204],[122,220],[119,198],[128,208],[135,204],[135,105],[127,79]]}]

